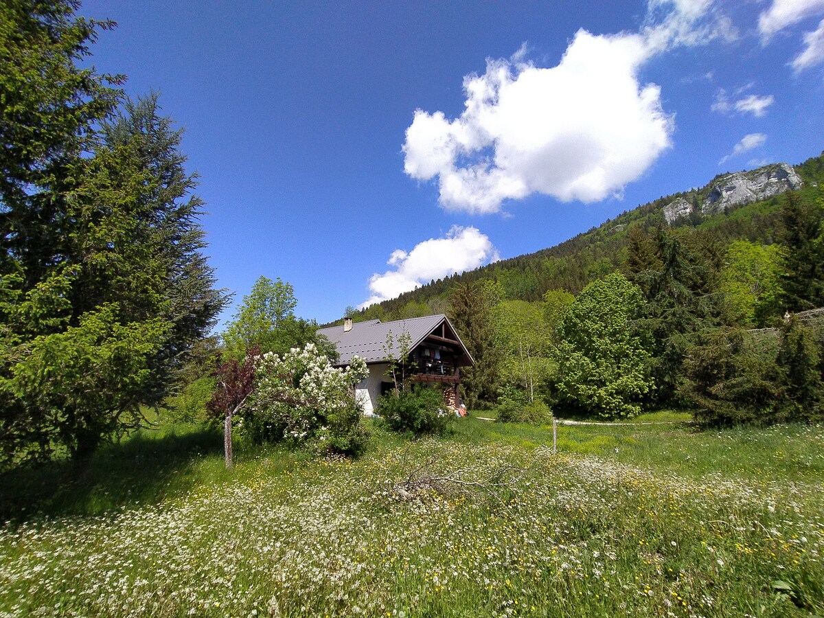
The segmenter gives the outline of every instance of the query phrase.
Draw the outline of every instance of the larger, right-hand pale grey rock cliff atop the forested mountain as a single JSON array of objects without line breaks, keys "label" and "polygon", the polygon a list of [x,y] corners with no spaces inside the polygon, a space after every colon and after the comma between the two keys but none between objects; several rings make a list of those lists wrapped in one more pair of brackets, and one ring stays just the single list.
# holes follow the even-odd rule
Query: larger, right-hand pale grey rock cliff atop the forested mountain
[{"label": "larger, right-hand pale grey rock cliff atop the forested mountain", "polygon": [[706,197],[701,203],[701,212],[719,213],[725,208],[769,199],[784,191],[798,189],[802,184],[801,177],[795,173],[793,166],[786,163],[725,174],[713,180],[707,187]]}]

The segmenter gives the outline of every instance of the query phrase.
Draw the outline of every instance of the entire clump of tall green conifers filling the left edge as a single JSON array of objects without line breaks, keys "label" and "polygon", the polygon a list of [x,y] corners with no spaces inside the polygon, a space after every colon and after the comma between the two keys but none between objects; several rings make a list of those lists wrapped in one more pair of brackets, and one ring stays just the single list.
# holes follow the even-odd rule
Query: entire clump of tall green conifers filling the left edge
[{"label": "entire clump of tall green conifers filling the left edge", "polygon": [[[223,295],[157,99],[78,68],[77,2],[0,5],[0,464],[86,456],[157,404]],[[102,126],[102,129],[101,129]]]}]

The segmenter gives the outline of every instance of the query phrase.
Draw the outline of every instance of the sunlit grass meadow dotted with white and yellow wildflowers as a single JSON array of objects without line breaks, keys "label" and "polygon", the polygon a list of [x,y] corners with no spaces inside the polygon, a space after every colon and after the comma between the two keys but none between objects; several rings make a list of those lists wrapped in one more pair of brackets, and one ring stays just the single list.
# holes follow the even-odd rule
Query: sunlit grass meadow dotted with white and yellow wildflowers
[{"label": "sunlit grass meadow dotted with white and yellow wildflowers", "polygon": [[[482,414],[483,415],[483,414]],[[357,461],[143,431],[0,478],[0,616],[824,616],[824,428],[373,427]],[[401,495],[397,484],[454,474]]]}]

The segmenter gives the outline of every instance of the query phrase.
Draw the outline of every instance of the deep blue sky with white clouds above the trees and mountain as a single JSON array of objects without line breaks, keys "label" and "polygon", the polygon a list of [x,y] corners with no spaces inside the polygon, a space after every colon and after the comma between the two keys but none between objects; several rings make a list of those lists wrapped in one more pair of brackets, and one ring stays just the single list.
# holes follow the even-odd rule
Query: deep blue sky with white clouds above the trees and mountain
[{"label": "deep blue sky with white clouds above the trees and mountain", "polygon": [[185,128],[220,286],[279,277],[320,322],[824,149],[824,0],[81,13],[119,23],[96,68]]}]

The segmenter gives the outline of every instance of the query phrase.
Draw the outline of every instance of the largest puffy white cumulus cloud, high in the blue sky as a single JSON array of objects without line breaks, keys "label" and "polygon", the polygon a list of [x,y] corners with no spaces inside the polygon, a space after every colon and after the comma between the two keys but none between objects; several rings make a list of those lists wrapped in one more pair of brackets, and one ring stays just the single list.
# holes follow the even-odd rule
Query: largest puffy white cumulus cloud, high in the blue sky
[{"label": "largest puffy white cumulus cloud, high in the blue sky", "polygon": [[661,90],[639,81],[648,59],[678,44],[730,36],[709,0],[650,0],[637,33],[578,30],[560,63],[536,67],[523,49],[464,78],[456,119],[416,110],[404,171],[438,179],[444,208],[499,212],[531,194],[592,202],[620,194],[672,143]]}]

